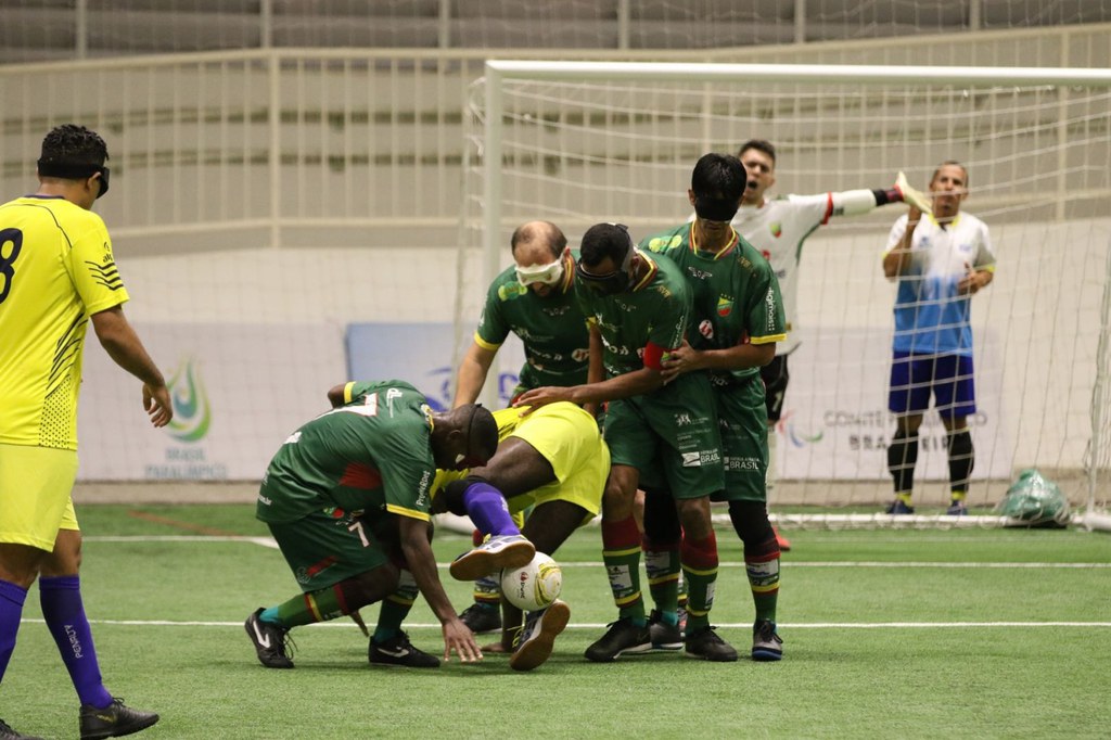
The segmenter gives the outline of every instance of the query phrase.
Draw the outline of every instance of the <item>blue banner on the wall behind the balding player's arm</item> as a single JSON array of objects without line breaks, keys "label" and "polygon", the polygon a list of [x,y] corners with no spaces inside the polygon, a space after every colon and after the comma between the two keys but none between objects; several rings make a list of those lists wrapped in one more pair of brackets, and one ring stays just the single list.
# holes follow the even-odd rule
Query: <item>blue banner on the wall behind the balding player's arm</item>
[{"label": "blue banner on the wall behind the balding player's arm", "polygon": [[[352,323],[348,326],[349,376],[354,380],[404,380],[442,411],[451,408],[456,371],[451,367],[450,323]],[[513,336],[498,350],[486,388],[497,382],[498,408],[509,406],[524,362],[524,349]]]}]

